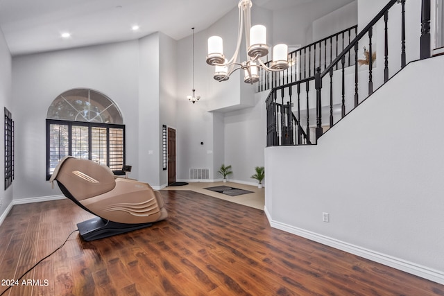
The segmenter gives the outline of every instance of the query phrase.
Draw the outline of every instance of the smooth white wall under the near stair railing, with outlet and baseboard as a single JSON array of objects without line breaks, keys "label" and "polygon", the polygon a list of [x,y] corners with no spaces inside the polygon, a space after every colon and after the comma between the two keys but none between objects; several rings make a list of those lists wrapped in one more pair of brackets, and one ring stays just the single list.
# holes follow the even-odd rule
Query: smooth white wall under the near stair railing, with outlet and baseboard
[{"label": "smooth white wall under the near stair railing, with outlet and baseboard", "polygon": [[444,284],[443,67],[409,64],[317,146],[266,148],[273,227]]}]

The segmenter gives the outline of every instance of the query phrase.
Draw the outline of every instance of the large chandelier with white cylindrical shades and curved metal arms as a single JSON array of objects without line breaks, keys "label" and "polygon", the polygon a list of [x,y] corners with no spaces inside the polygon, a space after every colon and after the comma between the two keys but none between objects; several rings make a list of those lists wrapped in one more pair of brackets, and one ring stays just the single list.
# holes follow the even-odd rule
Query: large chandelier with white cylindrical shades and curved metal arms
[{"label": "large chandelier with white cylindrical shades and curved metal arms", "polygon": [[[288,46],[277,44],[273,47],[273,60],[267,67],[260,58],[268,55],[266,44],[266,28],[263,25],[251,26],[251,0],[239,0],[239,31],[237,33],[237,46],[230,60],[223,55],[223,40],[219,36],[208,38],[207,64],[214,66],[213,78],[225,81],[239,69],[244,70],[244,82],[253,84],[259,80],[259,68],[265,71],[282,71],[289,67]],[[244,28],[244,30],[243,30]],[[248,58],[244,62],[237,62],[242,41],[242,31],[245,31],[246,51]]]}]

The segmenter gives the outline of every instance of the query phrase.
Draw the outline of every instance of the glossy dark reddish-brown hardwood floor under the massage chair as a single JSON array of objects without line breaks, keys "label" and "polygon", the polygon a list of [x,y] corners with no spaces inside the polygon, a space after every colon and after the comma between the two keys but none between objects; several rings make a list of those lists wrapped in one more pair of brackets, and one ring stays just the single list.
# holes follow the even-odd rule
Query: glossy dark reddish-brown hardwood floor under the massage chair
[{"label": "glossy dark reddish-brown hardwood floor under the massage chair", "polygon": [[[4,295],[444,295],[432,281],[273,229],[258,209],[161,192],[167,220],[92,242],[75,232]],[[2,284],[91,216],[70,200],[13,207],[0,227]]]}]

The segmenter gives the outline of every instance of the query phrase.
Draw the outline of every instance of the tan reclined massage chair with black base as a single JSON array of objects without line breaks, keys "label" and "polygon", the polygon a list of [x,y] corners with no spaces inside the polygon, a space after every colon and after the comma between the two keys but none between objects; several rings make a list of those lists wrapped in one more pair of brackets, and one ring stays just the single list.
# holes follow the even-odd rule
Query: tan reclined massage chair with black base
[{"label": "tan reclined massage chair with black base", "polygon": [[162,195],[146,183],[114,176],[108,166],[67,156],[49,182],[98,217],[78,223],[80,236],[93,241],[151,226],[167,218]]}]

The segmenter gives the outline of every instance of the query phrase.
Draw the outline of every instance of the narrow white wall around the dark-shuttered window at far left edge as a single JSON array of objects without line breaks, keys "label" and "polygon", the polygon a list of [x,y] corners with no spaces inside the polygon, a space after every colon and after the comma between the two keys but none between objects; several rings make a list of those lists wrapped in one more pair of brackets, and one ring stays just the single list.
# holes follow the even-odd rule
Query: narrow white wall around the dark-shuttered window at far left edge
[{"label": "narrow white wall around the dark-shuttered window at far left edge", "polygon": [[[10,55],[10,51],[8,48],[8,44],[6,44],[5,37],[3,36],[3,32],[0,29],[0,104],[2,107],[8,108],[8,110],[12,113],[12,120],[15,119],[15,110],[12,106],[12,58]],[[5,147],[5,139],[1,137],[0,141],[1,145],[1,155],[4,155],[4,147]],[[1,157],[0,165],[3,168],[5,165],[4,157]],[[12,191],[15,185],[15,181],[12,182],[12,186],[9,186],[8,189],[3,190],[0,189],[0,224],[1,217],[5,214],[6,209],[9,204],[12,202]]]}]

